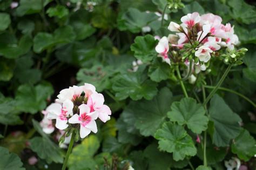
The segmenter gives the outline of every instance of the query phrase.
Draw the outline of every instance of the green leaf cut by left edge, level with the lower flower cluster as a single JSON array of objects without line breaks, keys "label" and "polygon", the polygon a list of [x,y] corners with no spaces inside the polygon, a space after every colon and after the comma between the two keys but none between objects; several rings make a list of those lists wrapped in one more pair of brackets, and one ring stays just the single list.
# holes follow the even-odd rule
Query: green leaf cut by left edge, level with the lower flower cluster
[{"label": "green leaf cut by left edge, level with the lower flower cluster", "polygon": [[14,99],[0,96],[0,123],[4,125],[23,124],[23,121],[18,116]]}]

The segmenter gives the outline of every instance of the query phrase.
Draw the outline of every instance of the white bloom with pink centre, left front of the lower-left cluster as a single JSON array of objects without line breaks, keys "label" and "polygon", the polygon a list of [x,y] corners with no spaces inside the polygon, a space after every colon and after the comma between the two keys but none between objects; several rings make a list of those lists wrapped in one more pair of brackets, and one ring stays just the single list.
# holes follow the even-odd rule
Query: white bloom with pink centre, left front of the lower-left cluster
[{"label": "white bloom with pink centre, left front of the lower-left cluster", "polygon": [[47,114],[48,119],[56,119],[56,127],[59,130],[64,130],[69,125],[68,117],[73,114],[73,102],[71,100],[65,100],[63,104],[53,103],[46,111],[49,113]]}]

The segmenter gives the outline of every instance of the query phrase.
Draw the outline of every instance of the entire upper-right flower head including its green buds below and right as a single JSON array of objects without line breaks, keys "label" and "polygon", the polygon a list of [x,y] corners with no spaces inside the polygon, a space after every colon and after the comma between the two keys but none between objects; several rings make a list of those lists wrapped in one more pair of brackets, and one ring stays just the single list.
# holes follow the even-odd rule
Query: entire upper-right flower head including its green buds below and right
[{"label": "entire upper-right flower head including its green buds below and right", "polygon": [[183,62],[186,66],[189,63],[190,69],[198,67],[205,71],[211,58],[221,56],[226,49],[229,57],[223,56],[225,62],[241,64],[246,49],[234,49],[239,40],[230,23],[224,25],[220,16],[212,13],[200,16],[198,12],[188,13],[180,21],[181,24],[170,22],[168,29],[175,34],[160,38],[156,46],[163,62],[170,65]]}]

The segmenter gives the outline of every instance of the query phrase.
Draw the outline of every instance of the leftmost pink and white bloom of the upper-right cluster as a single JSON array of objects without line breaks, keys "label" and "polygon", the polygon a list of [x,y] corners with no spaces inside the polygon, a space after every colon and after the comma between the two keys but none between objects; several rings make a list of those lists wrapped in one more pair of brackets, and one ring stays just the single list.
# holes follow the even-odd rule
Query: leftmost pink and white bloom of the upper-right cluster
[{"label": "leftmost pink and white bloom of the upper-right cluster", "polygon": [[171,65],[170,58],[168,57],[168,51],[169,51],[169,40],[167,37],[162,37],[157,46],[156,51],[159,53],[158,57],[163,58],[163,61]]}]

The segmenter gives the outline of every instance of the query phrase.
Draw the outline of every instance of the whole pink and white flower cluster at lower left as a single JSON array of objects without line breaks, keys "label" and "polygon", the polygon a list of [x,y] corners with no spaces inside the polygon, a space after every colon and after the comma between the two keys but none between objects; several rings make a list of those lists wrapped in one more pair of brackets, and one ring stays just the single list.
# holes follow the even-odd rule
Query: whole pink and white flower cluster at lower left
[{"label": "whole pink and white flower cluster at lower left", "polygon": [[80,138],[85,138],[91,131],[97,133],[97,118],[104,123],[110,120],[111,110],[104,105],[104,96],[91,84],[69,87],[60,91],[57,97],[56,103],[43,111],[41,126],[45,133],[54,131],[52,119],[56,119],[55,126],[59,130],[80,126]]}]

